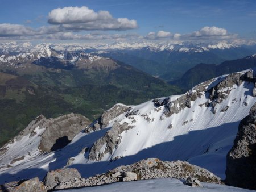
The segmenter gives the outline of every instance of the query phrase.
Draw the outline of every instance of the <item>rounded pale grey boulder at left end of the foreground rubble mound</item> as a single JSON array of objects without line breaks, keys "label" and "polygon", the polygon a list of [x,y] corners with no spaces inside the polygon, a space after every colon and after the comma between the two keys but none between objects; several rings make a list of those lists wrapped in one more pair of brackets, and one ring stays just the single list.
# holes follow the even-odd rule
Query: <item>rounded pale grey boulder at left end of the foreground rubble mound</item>
[{"label": "rounded pale grey boulder at left end of the foreground rubble mound", "polygon": [[64,168],[48,172],[43,182],[47,189],[55,189],[60,183],[74,179],[81,179],[81,174],[76,169]]}]

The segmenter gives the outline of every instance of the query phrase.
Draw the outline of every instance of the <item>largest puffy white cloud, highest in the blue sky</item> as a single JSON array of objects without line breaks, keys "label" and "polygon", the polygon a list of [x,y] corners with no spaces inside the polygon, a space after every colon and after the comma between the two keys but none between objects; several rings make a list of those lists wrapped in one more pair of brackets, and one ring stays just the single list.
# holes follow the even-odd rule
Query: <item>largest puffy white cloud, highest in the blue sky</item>
[{"label": "largest puffy white cloud, highest in the blue sky", "polygon": [[136,20],[113,18],[108,11],[94,12],[88,7],[64,7],[49,12],[48,23],[65,30],[129,30],[137,28]]}]

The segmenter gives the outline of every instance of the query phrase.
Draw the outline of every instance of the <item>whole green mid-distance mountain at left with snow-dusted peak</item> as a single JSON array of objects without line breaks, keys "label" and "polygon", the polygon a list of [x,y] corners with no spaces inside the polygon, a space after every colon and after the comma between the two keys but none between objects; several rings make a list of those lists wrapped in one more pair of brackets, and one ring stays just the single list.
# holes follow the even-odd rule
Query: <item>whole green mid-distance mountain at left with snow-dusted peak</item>
[{"label": "whole green mid-distance mountain at left with snow-dusted peak", "polygon": [[180,91],[122,62],[49,46],[1,55],[0,72],[1,144],[40,114],[55,118],[75,112],[93,120],[114,103],[141,103]]}]

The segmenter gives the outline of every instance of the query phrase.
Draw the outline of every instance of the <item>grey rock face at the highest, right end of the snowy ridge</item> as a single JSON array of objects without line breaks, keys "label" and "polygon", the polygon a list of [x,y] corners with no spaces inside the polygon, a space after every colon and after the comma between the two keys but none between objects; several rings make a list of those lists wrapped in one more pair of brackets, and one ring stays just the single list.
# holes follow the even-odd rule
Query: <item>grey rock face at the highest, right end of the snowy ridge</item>
[{"label": "grey rock face at the highest, right end of the snowy ridge", "polygon": [[[233,85],[241,85],[243,81],[247,82],[256,82],[256,78],[253,76],[253,71],[249,71],[246,73],[232,73],[229,74],[219,82],[214,87],[211,87],[210,89],[208,86],[210,85],[213,80],[209,80],[206,82],[203,82],[202,84],[199,84],[191,91],[188,91],[186,94],[181,95],[179,98],[175,99],[174,101],[170,101],[170,99],[154,99],[154,105],[155,106],[162,106],[166,108],[166,111],[164,114],[169,117],[172,114],[177,114],[181,110],[183,110],[185,107],[191,108],[191,101],[196,101],[197,98],[201,98],[201,95],[209,93],[207,97],[209,97],[209,102],[204,103],[205,106],[209,107],[210,104],[212,104],[212,112],[216,113],[217,104],[221,103],[224,99],[228,98],[228,95],[230,94]],[[256,85],[255,85],[256,87]],[[255,88],[256,89],[256,88]],[[253,90],[253,95],[256,95],[256,91]],[[255,96],[254,96],[255,97]],[[211,102],[210,102],[211,101]],[[201,105],[203,106],[203,104]],[[222,112],[228,110],[228,107],[226,107]]]}]

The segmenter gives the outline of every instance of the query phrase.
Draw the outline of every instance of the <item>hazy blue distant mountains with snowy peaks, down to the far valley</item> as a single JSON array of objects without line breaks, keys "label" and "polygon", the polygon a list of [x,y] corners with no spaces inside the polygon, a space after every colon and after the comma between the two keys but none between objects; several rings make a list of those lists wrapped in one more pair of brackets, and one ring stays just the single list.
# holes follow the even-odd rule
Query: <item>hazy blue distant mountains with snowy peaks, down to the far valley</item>
[{"label": "hazy blue distant mountains with snowy peaks, down to the far valley", "polygon": [[[46,46],[30,43],[0,44],[0,53],[19,54],[35,52]],[[68,45],[51,44],[56,50],[93,53],[94,55],[110,57],[134,66],[165,81],[180,78],[187,70],[196,64],[220,64],[226,60],[241,59],[256,52],[255,45],[236,45],[226,41],[214,44],[192,43],[112,43]]]}]

